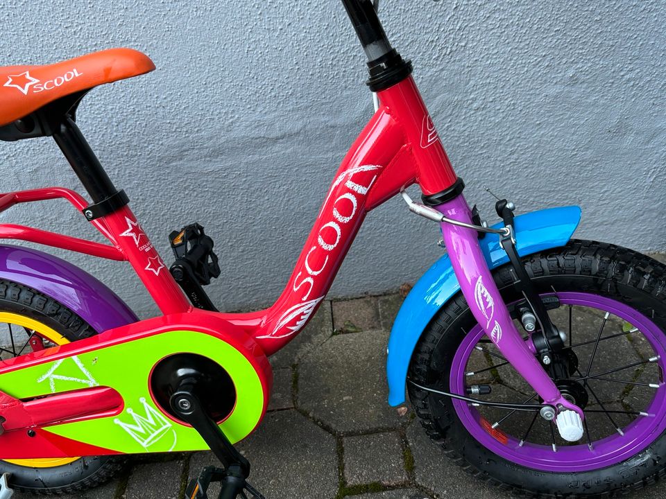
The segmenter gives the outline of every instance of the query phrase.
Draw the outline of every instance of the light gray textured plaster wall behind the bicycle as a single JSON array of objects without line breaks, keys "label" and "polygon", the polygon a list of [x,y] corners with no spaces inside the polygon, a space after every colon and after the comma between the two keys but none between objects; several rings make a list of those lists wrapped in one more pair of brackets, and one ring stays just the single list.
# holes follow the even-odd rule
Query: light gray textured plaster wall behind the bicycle
[{"label": "light gray textured plaster wall behind the bicycle", "polygon": [[[469,200],[490,216],[488,184],[520,210],[578,203],[580,236],[666,249],[666,2],[382,4]],[[371,112],[338,1],[0,0],[0,22],[2,65],[112,46],[150,55],[158,71],[96,89],[81,127],[167,261],[169,231],[199,220],[219,241],[216,303],[278,296]],[[0,173],[0,190],[80,191],[48,139],[1,143]],[[64,202],[0,220],[94,236]],[[436,239],[391,200],[368,217],[332,295],[414,281],[441,253]],[[67,258],[142,315],[155,312],[130,268]]]}]

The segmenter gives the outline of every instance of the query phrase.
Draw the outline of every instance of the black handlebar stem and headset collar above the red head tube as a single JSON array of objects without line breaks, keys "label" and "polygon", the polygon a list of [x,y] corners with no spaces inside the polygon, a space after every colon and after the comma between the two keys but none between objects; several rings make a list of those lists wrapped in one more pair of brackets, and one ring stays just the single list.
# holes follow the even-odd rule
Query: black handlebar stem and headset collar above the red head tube
[{"label": "black handlebar stem and headset collar above the red head tube", "polygon": [[411,62],[402,59],[388,42],[386,32],[371,0],[342,0],[352,26],[368,56],[368,87],[379,91],[411,75]]}]

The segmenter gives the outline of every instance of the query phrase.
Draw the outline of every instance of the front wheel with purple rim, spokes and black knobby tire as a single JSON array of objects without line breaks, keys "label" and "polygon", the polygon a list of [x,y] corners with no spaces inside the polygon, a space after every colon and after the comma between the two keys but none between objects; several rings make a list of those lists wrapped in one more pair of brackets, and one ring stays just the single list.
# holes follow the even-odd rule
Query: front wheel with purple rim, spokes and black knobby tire
[{"label": "front wheel with purple rim, spokes and black knobby tire", "polygon": [[[464,469],[530,497],[607,498],[654,482],[666,471],[666,267],[580,240],[522,261],[567,333],[561,358],[569,372],[552,378],[585,412],[583,439],[564,441],[537,412],[472,406],[409,383],[422,426]],[[506,304],[520,301],[510,265],[493,275]],[[484,401],[540,401],[461,294],[424,331],[409,378],[462,395],[485,385],[490,393],[476,396]]]}]

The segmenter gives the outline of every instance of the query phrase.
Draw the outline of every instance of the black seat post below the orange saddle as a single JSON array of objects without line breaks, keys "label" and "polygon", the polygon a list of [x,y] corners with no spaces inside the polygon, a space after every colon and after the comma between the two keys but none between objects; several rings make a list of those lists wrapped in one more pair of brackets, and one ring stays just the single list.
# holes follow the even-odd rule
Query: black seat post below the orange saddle
[{"label": "black seat post below the orange saddle", "polygon": [[71,116],[66,114],[60,124],[54,128],[53,139],[56,139],[56,143],[89,193],[92,202],[100,203],[117,195],[116,187]]}]

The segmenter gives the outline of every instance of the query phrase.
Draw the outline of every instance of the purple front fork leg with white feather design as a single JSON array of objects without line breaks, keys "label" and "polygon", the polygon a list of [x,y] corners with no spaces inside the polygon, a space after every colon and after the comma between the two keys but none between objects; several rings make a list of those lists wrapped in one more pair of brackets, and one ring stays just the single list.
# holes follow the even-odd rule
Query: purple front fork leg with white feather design
[{"label": "purple front fork leg with white feather design", "polygon": [[[472,224],[472,212],[459,195],[454,200],[440,204],[436,210],[446,218]],[[566,401],[553,380],[546,374],[513,324],[502,296],[488,270],[477,231],[442,222],[442,234],[449,258],[472,314],[516,371],[539,394],[545,403],[563,405],[583,418],[583,411]]]}]

